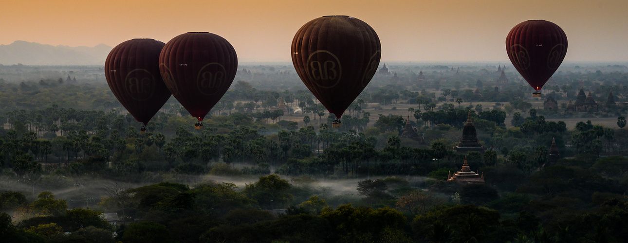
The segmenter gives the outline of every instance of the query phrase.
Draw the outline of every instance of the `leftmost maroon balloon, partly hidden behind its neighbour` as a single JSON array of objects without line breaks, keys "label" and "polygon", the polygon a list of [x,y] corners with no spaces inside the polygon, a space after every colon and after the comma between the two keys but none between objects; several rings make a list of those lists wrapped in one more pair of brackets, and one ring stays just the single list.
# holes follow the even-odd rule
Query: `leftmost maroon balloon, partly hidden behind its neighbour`
[{"label": "leftmost maroon balloon, partly hidden behind its neighbour", "polygon": [[154,39],[131,39],[112,49],[105,61],[109,88],[135,120],[144,123],[142,133],[170,98],[159,71],[159,55],[164,45]]}]

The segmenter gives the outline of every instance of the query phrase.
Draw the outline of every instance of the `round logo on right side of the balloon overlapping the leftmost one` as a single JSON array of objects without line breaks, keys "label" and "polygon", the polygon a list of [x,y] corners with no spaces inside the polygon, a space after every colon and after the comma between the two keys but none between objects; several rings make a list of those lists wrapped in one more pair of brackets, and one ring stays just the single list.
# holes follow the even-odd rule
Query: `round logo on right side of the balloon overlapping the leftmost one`
[{"label": "round logo on right side of the balloon overlapping the leftmost one", "polygon": [[209,63],[198,71],[197,87],[203,95],[214,95],[220,91],[227,79],[227,70],[220,63]]}]

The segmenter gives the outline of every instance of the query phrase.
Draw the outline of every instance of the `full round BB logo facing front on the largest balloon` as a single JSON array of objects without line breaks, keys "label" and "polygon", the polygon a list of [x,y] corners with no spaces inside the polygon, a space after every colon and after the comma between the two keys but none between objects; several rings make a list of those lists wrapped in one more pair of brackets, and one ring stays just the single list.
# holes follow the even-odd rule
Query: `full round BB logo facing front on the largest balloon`
[{"label": "full round BB logo facing front on the largest balloon", "polygon": [[305,63],[306,73],[313,83],[320,88],[332,88],[340,83],[342,66],[338,57],[329,51],[315,51]]}]

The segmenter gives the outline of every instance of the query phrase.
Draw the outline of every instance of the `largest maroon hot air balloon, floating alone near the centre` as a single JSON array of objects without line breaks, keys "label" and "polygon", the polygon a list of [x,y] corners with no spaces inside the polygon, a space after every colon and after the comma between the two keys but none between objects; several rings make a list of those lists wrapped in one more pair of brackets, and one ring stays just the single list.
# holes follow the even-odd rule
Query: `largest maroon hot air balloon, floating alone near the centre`
[{"label": "largest maroon hot air balloon, floating alone near the centre", "polygon": [[360,19],[323,16],[304,24],[292,39],[296,73],[337,119],[369,84],[381,58],[377,34]]}]

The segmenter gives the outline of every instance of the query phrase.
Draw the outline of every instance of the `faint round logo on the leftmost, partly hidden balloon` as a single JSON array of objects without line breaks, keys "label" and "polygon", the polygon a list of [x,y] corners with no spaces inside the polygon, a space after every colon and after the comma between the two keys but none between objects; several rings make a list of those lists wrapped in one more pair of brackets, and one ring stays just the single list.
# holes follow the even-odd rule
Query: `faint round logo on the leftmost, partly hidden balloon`
[{"label": "faint round logo on the leftmost, partly hidden balloon", "polygon": [[155,90],[155,78],[148,70],[134,69],[124,78],[124,91],[133,100],[148,100]]}]

